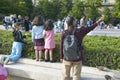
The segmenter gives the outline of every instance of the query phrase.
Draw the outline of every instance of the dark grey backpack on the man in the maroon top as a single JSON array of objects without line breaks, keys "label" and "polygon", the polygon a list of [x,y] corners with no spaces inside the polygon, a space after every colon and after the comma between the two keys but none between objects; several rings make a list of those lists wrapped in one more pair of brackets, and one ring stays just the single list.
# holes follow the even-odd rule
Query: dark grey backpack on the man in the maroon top
[{"label": "dark grey backpack on the man in the maroon top", "polygon": [[80,49],[78,39],[75,36],[76,28],[72,33],[66,32],[66,36],[63,40],[63,54],[65,60],[78,60],[80,59]]}]

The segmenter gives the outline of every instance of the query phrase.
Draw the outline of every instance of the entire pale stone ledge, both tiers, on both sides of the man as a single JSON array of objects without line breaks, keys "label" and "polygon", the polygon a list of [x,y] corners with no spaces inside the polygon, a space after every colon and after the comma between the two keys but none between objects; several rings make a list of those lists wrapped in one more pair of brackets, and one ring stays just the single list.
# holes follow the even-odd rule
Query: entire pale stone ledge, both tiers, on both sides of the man
[{"label": "entire pale stone ledge, both tiers, on both sides of the man", "polygon": [[[1,56],[1,55],[0,55]],[[5,65],[9,75],[33,80],[60,80],[61,63],[36,62],[32,59],[21,58],[17,63]],[[94,67],[82,66],[82,80],[105,80],[104,75],[114,76],[113,70],[100,71]]]}]

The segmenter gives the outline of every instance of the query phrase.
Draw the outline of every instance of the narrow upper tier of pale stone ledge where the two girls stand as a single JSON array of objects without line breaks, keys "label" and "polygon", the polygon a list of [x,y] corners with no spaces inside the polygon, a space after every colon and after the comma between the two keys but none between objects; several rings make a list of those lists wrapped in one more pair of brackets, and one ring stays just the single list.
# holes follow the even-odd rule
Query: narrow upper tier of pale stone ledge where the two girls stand
[{"label": "narrow upper tier of pale stone ledge where the two girls stand", "polygon": [[[21,58],[18,62],[19,63],[24,63],[24,64],[29,64],[29,65],[46,67],[46,68],[59,69],[59,70],[61,70],[61,68],[62,68],[62,63],[36,62],[35,60],[26,59],[26,58]],[[104,76],[104,75],[108,74],[108,75],[113,76],[112,71],[113,70],[100,71],[95,67],[82,66],[82,73],[88,73],[88,74],[93,74],[93,75]]]}]

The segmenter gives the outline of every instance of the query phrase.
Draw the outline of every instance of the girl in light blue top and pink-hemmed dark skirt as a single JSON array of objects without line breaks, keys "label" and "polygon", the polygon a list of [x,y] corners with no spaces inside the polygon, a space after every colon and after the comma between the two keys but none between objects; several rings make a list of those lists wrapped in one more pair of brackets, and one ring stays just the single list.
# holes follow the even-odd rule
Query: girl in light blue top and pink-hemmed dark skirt
[{"label": "girl in light blue top and pink-hemmed dark skirt", "polygon": [[36,16],[33,20],[32,41],[34,42],[34,49],[36,61],[42,61],[42,50],[44,49],[44,20],[42,16]]}]

